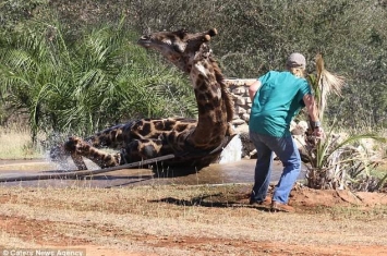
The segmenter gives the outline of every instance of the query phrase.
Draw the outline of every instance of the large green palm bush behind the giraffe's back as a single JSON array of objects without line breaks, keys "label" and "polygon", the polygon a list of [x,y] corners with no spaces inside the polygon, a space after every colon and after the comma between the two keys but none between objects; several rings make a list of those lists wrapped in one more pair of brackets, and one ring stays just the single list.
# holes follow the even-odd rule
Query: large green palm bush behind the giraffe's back
[{"label": "large green palm bush behind the giraffe's back", "polygon": [[28,114],[34,141],[38,132],[83,136],[140,117],[196,114],[188,81],[149,58],[123,20],[76,37],[58,22],[29,25],[2,39],[0,89]]}]

